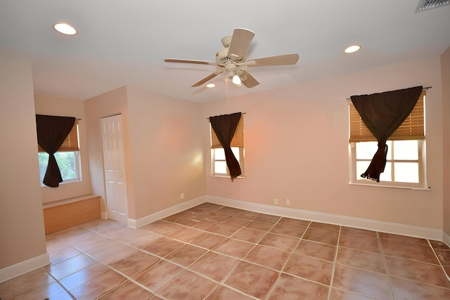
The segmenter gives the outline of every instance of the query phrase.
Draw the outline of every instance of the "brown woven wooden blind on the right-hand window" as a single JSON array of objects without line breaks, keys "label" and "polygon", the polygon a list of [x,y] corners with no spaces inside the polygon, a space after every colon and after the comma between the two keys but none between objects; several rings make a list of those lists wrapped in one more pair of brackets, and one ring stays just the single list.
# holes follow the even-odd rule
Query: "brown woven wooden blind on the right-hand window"
[{"label": "brown woven wooden blind on the right-hand window", "polygon": [[[426,90],[420,94],[416,106],[414,106],[411,114],[406,117],[399,128],[392,133],[389,140],[423,140],[425,139],[425,107],[424,98]],[[371,142],[377,141],[375,136],[368,130],[366,124],[359,116],[359,112],[354,107],[352,101],[349,101],[350,115],[350,142]]]}]

